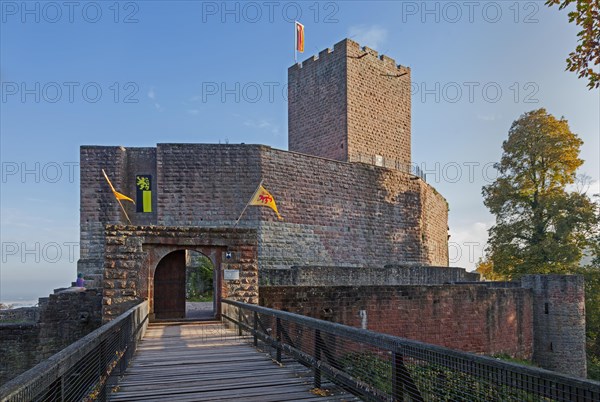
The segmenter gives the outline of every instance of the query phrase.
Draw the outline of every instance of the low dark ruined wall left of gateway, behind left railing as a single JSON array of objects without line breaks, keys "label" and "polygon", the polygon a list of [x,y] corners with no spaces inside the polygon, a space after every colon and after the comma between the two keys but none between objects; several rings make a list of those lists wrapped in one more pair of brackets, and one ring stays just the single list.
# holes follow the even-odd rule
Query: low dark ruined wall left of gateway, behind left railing
[{"label": "low dark ruined wall left of gateway, behind left railing", "polygon": [[[25,320],[0,321],[0,385],[82,338],[102,323],[100,289],[68,289],[40,299]],[[21,310],[21,309],[18,309]],[[13,317],[13,321],[15,317]]]}]

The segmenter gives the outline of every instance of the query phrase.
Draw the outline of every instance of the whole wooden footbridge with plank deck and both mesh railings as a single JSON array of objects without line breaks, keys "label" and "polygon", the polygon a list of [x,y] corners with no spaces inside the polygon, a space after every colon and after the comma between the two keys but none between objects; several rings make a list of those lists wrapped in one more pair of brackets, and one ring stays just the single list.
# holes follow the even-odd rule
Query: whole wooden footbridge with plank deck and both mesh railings
[{"label": "whole wooden footbridge with plank deck and both mesh railings", "polygon": [[148,325],[144,301],[4,384],[0,402],[600,401],[596,381],[257,305],[223,306],[226,325]]}]

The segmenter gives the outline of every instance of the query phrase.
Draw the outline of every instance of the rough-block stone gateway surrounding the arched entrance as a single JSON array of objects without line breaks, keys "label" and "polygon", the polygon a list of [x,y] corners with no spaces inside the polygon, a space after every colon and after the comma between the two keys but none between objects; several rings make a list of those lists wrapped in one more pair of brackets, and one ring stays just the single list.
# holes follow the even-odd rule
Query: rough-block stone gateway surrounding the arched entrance
[{"label": "rough-block stone gateway surrounding the arched entrance", "polygon": [[[223,298],[258,303],[255,229],[107,225],[104,234],[104,321],[142,300],[149,300],[153,314],[159,262],[172,252],[186,249],[199,251],[213,261],[220,281],[215,287],[219,303]],[[224,271],[233,272],[228,277],[234,279],[224,280]]]}]

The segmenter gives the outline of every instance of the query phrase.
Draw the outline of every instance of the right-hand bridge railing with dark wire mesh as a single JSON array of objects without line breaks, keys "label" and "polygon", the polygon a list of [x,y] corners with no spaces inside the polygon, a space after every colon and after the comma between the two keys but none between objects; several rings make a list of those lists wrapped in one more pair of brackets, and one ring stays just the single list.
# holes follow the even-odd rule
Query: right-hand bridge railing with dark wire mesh
[{"label": "right-hand bridge railing with dark wire mesh", "polygon": [[599,401],[600,383],[395,336],[223,300],[223,318],[283,355],[373,401]]}]

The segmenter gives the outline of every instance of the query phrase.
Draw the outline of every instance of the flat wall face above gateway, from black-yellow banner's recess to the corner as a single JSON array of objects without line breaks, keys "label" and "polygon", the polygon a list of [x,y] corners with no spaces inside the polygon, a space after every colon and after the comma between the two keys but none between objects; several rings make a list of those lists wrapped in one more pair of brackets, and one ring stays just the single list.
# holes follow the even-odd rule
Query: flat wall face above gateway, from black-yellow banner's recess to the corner
[{"label": "flat wall face above gateway, from black-yellow banner's recess to the corner", "polygon": [[[261,180],[262,146],[158,144],[158,221],[166,226],[231,225]],[[265,213],[248,208],[241,225]]]}]

